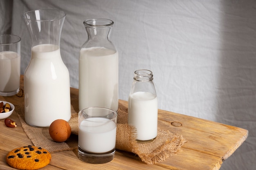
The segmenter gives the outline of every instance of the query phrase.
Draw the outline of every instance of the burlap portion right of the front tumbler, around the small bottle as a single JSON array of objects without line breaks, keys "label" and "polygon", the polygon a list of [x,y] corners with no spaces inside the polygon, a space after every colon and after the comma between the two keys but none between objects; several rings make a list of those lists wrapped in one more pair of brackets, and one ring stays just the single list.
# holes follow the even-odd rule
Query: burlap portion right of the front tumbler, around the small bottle
[{"label": "burlap portion right of the front tumbler, around the small bottle", "polygon": [[117,119],[117,142],[116,148],[133,152],[139,156],[141,161],[147,164],[155,164],[164,161],[169,156],[180,152],[185,143],[182,135],[157,129],[157,137],[150,143],[138,143],[136,141],[136,128],[128,125],[128,110],[119,109]]}]

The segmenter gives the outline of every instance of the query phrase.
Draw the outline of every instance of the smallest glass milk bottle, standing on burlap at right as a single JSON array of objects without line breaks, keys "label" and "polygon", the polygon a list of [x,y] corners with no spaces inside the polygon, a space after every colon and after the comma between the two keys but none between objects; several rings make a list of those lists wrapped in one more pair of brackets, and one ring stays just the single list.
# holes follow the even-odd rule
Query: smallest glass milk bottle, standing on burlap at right
[{"label": "smallest glass milk bottle, standing on burlap at right", "polygon": [[128,98],[128,124],[137,129],[137,141],[146,143],[157,137],[157,95],[153,73],[149,70],[134,72]]}]

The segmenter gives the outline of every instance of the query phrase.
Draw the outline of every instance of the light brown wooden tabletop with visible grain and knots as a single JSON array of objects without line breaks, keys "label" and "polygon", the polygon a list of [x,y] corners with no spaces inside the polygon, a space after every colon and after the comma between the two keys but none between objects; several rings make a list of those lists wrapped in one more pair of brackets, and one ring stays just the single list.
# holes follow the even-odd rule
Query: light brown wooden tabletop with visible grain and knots
[{"label": "light brown wooden tabletop with visible grain and knots", "polygon": [[[0,100],[15,105],[24,104],[22,75],[20,89],[17,95],[0,96]],[[78,89],[70,89],[71,98],[78,99]],[[127,106],[127,101],[119,100],[120,108],[127,109]],[[17,113],[14,111],[9,118],[15,121],[18,127],[8,128],[4,124],[4,119],[0,120],[0,169],[4,170],[13,170],[5,161],[10,150],[32,145],[31,140],[23,131]],[[80,161],[76,149],[52,153],[50,164],[42,170],[218,170],[222,161],[232,155],[248,136],[248,130],[242,128],[165,110],[158,110],[158,126],[180,133],[186,140],[180,152],[163,162],[147,165],[141,162],[135,154],[117,150],[111,162],[95,165]]]}]

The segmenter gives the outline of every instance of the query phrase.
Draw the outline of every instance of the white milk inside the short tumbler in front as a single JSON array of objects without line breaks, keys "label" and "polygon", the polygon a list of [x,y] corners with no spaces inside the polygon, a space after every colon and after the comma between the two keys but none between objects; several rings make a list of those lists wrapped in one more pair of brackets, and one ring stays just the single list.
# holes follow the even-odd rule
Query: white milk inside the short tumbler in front
[{"label": "white milk inside the short tumbler in front", "polygon": [[[93,122],[104,121],[106,122]],[[103,117],[83,120],[79,126],[78,144],[87,152],[103,153],[115,148],[117,127],[115,122]]]}]

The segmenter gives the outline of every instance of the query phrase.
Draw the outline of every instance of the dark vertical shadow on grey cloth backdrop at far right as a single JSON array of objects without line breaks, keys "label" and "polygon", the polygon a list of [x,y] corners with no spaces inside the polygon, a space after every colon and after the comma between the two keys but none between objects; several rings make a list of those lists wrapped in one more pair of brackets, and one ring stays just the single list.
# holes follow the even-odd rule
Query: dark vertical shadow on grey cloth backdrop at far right
[{"label": "dark vertical shadow on grey cloth backdrop at far right", "polygon": [[256,167],[256,3],[222,1],[216,121],[249,130],[220,170]]}]

